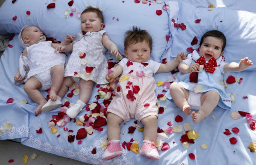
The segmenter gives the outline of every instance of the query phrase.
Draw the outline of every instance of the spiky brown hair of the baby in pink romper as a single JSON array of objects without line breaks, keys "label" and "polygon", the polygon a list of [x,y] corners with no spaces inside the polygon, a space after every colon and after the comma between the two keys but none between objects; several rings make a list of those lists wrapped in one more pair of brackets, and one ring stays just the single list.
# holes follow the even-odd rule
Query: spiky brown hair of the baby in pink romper
[{"label": "spiky brown hair of the baby in pink romper", "polygon": [[152,50],[153,40],[147,31],[141,30],[140,28],[137,28],[137,26],[133,26],[132,31],[129,30],[125,32],[125,41],[124,41],[125,50],[130,44],[136,44],[137,42],[143,42],[143,41],[147,42],[150,50]]}]

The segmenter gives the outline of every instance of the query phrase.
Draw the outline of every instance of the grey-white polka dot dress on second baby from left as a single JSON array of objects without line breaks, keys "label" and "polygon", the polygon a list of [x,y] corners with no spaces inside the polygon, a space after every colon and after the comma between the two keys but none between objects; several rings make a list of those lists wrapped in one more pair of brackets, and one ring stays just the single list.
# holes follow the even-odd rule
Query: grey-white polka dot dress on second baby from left
[{"label": "grey-white polka dot dress on second baby from left", "polygon": [[84,80],[92,80],[96,84],[106,84],[108,60],[106,48],[102,45],[105,31],[87,32],[73,45],[73,52],[67,62],[64,77],[73,76]]}]

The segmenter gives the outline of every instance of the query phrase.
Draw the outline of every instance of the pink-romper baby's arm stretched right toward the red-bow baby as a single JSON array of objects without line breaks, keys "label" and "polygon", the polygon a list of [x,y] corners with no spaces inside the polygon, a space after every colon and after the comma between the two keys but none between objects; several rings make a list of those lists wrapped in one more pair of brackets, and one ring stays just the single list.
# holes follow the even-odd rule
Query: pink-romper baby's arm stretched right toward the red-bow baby
[{"label": "pink-romper baby's arm stretched right toward the red-bow baby", "polygon": [[171,72],[174,70],[182,60],[186,59],[186,54],[185,53],[178,53],[177,57],[172,60],[171,62],[167,62],[166,64],[160,64],[159,69],[157,70],[157,73],[161,72]]}]

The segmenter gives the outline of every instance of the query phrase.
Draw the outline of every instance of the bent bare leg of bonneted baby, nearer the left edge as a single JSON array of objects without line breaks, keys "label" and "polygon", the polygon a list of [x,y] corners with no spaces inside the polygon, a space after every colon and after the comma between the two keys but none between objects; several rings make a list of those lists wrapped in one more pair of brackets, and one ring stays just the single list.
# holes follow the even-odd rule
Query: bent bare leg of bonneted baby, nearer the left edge
[{"label": "bent bare leg of bonneted baby, nearer the left edge", "polygon": [[47,103],[44,96],[38,90],[40,87],[41,82],[35,77],[30,77],[23,87],[24,91],[29,95],[29,98],[39,104],[35,109],[35,115],[39,115],[42,112],[42,106]]}]

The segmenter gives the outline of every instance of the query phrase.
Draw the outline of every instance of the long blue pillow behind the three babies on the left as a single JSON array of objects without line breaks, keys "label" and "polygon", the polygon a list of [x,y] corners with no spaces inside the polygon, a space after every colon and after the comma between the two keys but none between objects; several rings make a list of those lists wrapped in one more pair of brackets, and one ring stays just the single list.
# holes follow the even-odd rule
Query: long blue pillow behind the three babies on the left
[{"label": "long blue pillow behind the three babies on the left", "polygon": [[[166,50],[166,36],[169,36],[168,13],[162,9],[162,4],[135,3],[134,0],[74,0],[72,6],[76,7],[73,17],[65,18],[65,10],[70,11],[70,0],[46,1],[42,0],[17,0],[12,3],[6,0],[0,8],[0,35],[18,34],[24,25],[39,27],[48,37],[62,41],[66,34],[76,35],[80,28],[80,20],[76,18],[88,5],[102,9],[104,16],[104,30],[110,39],[116,43],[119,52],[123,52],[125,31],[131,30],[133,25],[147,30],[153,38],[151,59],[160,62]],[[55,3],[55,8],[47,8],[49,3]],[[151,5],[149,5],[151,4]],[[162,10],[159,16],[156,10]],[[26,14],[30,11],[30,15]],[[71,13],[71,11],[70,11]],[[14,16],[16,20],[12,20]],[[27,20],[27,18],[30,20]]]}]

